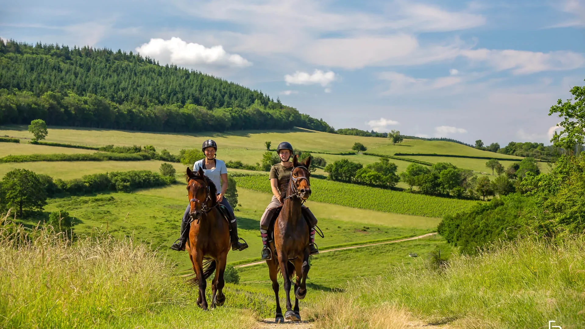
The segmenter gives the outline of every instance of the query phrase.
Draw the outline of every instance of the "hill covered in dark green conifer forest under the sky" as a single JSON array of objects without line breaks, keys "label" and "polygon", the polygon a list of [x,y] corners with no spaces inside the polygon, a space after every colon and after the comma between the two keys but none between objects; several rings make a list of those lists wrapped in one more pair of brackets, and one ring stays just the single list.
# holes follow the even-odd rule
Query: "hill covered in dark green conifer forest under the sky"
[{"label": "hill covered in dark green conifer forest under the sky", "polygon": [[142,131],[333,131],[261,91],[132,52],[0,39],[0,124],[37,118]]}]

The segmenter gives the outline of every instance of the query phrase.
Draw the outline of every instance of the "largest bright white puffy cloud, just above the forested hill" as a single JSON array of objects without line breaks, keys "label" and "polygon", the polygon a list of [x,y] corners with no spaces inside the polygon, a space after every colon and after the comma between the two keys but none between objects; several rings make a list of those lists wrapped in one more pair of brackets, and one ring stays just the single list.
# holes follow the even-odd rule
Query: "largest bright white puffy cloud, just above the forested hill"
[{"label": "largest bright white puffy cloud, just above the forested hill", "polygon": [[230,54],[223,46],[205,47],[198,43],[187,43],[178,37],[170,40],[150,39],[148,43],[136,48],[142,56],[148,56],[162,63],[177,65],[215,65],[229,67],[246,67],[252,65],[238,54]]}]

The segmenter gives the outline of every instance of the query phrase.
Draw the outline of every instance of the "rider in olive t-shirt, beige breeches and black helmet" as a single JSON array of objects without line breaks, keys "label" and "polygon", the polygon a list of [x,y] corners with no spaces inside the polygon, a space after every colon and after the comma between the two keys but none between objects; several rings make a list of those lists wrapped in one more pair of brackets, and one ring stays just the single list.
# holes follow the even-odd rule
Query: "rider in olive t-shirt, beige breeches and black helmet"
[{"label": "rider in olive t-shirt, beige breeches and black helmet", "polygon": [[[263,261],[272,258],[270,248],[268,247],[270,239],[269,231],[271,230],[270,222],[274,218],[275,210],[283,205],[283,200],[287,194],[288,181],[290,180],[292,172],[292,162],[289,161],[292,155],[292,145],[288,142],[281,142],[278,144],[276,152],[278,153],[278,157],[280,157],[280,163],[277,163],[270,168],[269,176],[273,196],[260,219],[260,236],[262,237],[262,244],[264,245],[262,248]],[[304,205],[302,206],[302,214],[305,217],[309,228],[311,228],[309,229],[309,255],[316,255],[319,253],[319,250],[315,245],[315,225],[317,224],[317,220],[315,215],[311,213],[311,210]]]}]

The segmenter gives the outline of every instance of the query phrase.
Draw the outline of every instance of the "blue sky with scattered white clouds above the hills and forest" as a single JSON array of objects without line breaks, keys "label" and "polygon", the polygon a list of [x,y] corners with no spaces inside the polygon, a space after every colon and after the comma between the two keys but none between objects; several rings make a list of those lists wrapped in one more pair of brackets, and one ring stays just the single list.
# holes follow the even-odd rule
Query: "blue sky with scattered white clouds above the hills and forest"
[{"label": "blue sky with scattered white clouds above the hills and forest", "polygon": [[335,128],[544,142],[585,82],[585,0],[3,1],[0,37],[140,52]]}]

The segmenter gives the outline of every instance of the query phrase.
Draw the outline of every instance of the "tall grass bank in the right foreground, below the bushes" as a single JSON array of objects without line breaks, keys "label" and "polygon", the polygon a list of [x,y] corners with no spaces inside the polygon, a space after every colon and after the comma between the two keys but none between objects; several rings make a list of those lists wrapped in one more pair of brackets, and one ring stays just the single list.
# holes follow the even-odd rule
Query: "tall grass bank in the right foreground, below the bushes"
[{"label": "tall grass bank in the right foreground, below the bushes", "polygon": [[403,328],[408,316],[456,328],[548,328],[549,320],[585,328],[585,237],[519,239],[439,270],[402,267],[305,307],[319,328]]}]

